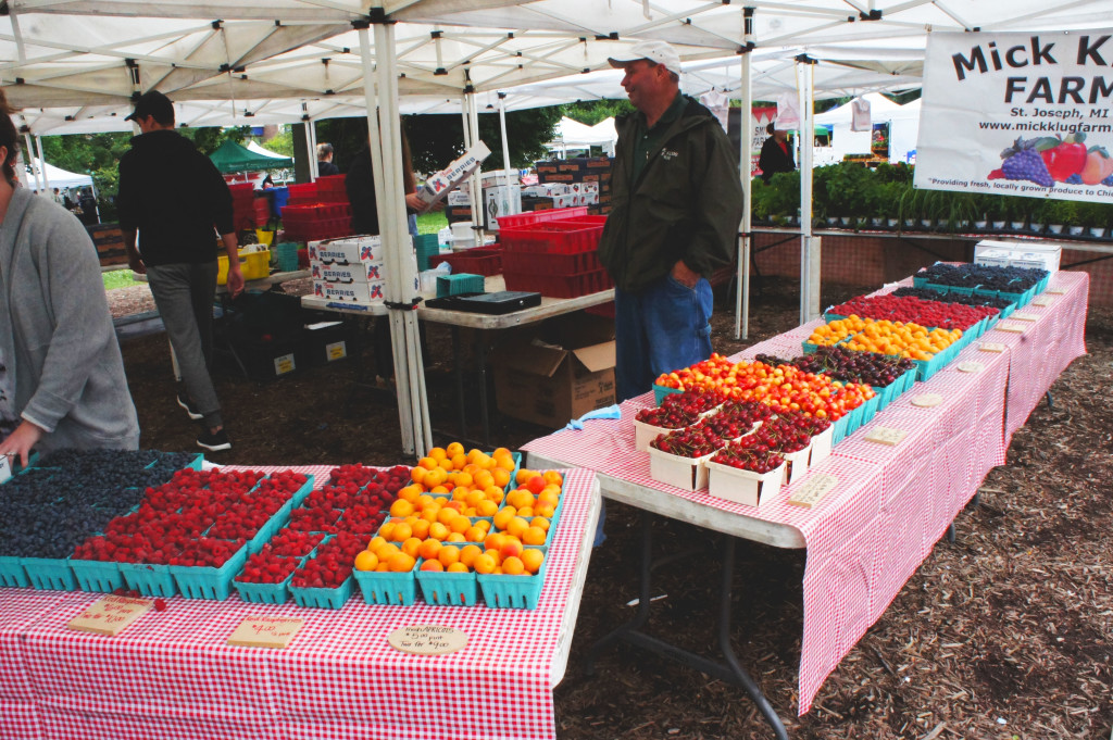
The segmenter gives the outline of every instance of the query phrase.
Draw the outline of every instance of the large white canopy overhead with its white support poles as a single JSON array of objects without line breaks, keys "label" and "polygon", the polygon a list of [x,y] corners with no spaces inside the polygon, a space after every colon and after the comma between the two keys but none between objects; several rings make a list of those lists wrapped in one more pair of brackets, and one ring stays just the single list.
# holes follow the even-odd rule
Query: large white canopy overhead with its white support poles
[{"label": "large white canopy overhead with its white support poles", "polygon": [[[314,115],[342,115],[351,110],[345,98],[355,102],[363,97],[364,111],[380,110],[378,118],[368,117],[368,124],[376,175],[383,175],[376,177],[382,188],[380,223],[391,245],[391,263],[398,268],[388,297],[392,304],[403,305],[414,295],[407,287],[411,280],[402,275],[406,264],[401,258],[404,208],[392,195],[401,184],[396,119],[403,98],[425,98],[431,103],[463,98],[470,140],[479,109],[476,93],[605,69],[607,57],[630,42],[661,39],[676,45],[686,61],[741,52],[740,90],[748,108],[751,77],[755,89],[762,83],[760,70],[751,72],[750,68],[759,66],[757,56],[765,49],[841,46],[853,50],[871,43],[923,48],[932,29],[1100,28],[1109,24],[1113,11],[1113,0],[1060,6],[1044,0],[1007,4],[999,0],[754,0],[748,4],[707,0],[383,0],[374,6],[359,0],[9,0],[7,14],[0,16],[0,85],[14,105],[26,109],[21,122],[40,136],[48,130],[62,132],[66,124],[104,126],[98,109],[117,111],[105,118],[118,120],[119,111],[129,110],[134,95],[152,88],[179,103],[209,107],[208,119],[183,116],[183,122],[193,125],[215,121],[218,114],[226,125],[266,122],[270,116],[285,117],[286,111],[278,109],[295,100],[301,107],[296,119],[313,120]],[[370,29],[374,29],[374,43]],[[788,69],[784,68],[786,75]],[[796,83],[790,89],[799,91],[806,116],[814,96],[812,78],[821,77],[817,71],[811,63],[795,63]],[[364,80],[372,79],[377,90],[364,86]],[[58,115],[58,109],[68,111]],[[56,111],[53,118],[48,111]],[[383,121],[383,145],[377,137],[378,120]],[[51,121],[55,126],[47,128]],[[805,148],[805,155],[801,164],[807,171],[810,148]],[[809,213],[810,178],[801,179],[804,209]],[[748,178],[743,180],[748,186]],[[748,216],[741,231],[749,231]],[[804,282],[810,288],[801,299],[801,316],[807,317],[818,314],[817,276],[809,282],[818,266],[818,249],[809,251],[809,239],[806,227]],[[414,388],[412,394],[408,386],[410,378],[421,376],[420,348],[410,330],[413,312],[391,313],[396,319],[405,316],[404,322],[393,322],[400,332],[395,348],[401,354],[395,361],[404,446],[422,451],[430,444],[427,423],[420,418],[423,389]],[[403,327],[405,341],[401,341]]]}]

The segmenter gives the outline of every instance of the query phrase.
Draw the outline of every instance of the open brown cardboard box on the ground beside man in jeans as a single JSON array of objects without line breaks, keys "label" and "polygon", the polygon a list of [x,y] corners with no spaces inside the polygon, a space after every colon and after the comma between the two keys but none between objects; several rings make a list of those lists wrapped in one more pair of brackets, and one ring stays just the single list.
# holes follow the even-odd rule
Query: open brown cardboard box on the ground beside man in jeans
[{"label": "open brown cardboard box on the ground beside man in jeans", "polygon": [[585,318],[563,322],[555,343],[526,335],[495,348],[491,362],[499,411],[562,427],[614,403],[613,325]]}]

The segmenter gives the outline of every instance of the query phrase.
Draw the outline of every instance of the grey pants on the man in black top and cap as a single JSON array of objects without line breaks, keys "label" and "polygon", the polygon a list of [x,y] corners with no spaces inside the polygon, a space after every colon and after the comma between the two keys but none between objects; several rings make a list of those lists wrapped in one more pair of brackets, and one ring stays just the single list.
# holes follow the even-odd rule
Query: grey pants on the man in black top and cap
[{"label": "grey pants on the man in black top and cap", "polygon": [[162,317],[186,393],[209,428],[224,425],[209,377],[213,361],[213,300],[217,264],[180,263],[147,267],[147,283]]}]

